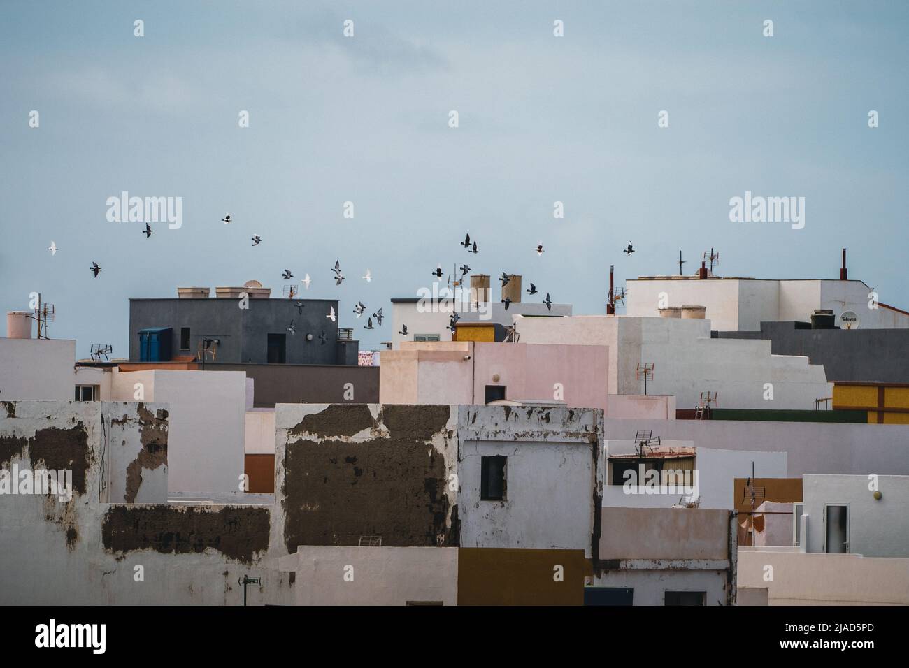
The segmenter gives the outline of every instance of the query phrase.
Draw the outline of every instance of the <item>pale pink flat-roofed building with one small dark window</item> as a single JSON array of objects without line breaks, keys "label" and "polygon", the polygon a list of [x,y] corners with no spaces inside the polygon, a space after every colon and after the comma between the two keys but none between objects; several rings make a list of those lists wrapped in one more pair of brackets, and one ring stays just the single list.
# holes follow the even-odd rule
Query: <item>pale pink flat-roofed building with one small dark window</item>
[{"label": "pale pink flat-roofed building with one small dark window", "polygon": [[488,404],[497,400],[602,408],[605,345],[404,342],[383,351],[381,404]]}]

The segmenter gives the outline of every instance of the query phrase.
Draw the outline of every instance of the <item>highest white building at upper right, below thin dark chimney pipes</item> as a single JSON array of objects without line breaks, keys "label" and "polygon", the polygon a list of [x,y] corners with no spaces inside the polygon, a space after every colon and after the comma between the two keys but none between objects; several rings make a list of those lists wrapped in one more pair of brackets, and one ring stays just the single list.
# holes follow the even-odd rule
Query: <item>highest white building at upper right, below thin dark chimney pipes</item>
[{"label": "highest white building at upper right, below thin dark chimney pipes", "polygon": [[865,329],[909,327],[909,314],[881,305],[863,281],[666,276],[629,280],[627,286],[629,316],[658,316],[661,305],[705,306],[705,317],[720,332],[759,331],[762,321],[811,322],[815,309],[833,310],[837,325],[840,315],[851,311]]}]

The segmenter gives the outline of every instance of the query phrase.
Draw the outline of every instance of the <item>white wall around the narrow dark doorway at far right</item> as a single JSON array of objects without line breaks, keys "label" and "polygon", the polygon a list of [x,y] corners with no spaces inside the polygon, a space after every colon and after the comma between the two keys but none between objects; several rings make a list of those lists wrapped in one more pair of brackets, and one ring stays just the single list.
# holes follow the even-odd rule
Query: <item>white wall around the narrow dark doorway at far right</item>
[{"label": "white wall around the narrow dark doorway at far right", "polygon": [[874,499],[867,475],[804,475],[808,552],[824,552],[824,506],[849,506],[849,552],[868,557],[909,557],[909,476],[879,475]]}]

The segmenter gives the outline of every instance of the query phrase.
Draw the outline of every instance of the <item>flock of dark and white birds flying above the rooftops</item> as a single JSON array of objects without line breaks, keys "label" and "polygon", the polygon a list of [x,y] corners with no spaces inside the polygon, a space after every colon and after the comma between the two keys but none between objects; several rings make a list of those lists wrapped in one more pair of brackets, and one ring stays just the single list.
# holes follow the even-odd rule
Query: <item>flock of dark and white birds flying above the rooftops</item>
[{"label": "flock of dark and white birds flying above the rooftops", "polygon": [[[225,216],[221,219],[221,221],[224,224],[230,224],[231,222],[233,222],[233,219],[231,218],[231,214],[225,214]],[[145,238],[148,239],[151,237],[152,233],[155,232],[155,230],[152,229],[150,224],[145,223],[145,229],[140,230],[140,232],[142,234],[145,234]],[[262,243],[262,237],[259,234],[253,234],[253,236],[251,237],[251,241],[253,242],[252,245],[257,246]],[[474,239],[473,241],[471,241],[470,234],[465,234],[464,241],[460,242],[459,245],[464,246],[464,248],[467,250],[468,253],[478,254],[480,252],[479,246],[476,243],[476,240]],[[49,246],[47,246],[47,250],[51,252],[51,255],[56,254],[57,245],[55,244],[55,242],[53,240],[51,240],[51,244]],[[543,242],[536,244],[535,252],[536,252],[537,256],[543,255],[543,253],[544,253]],[[627,255],[631,255],[634,253],[634,246],[631,244],[631,242],[628,242],[627,247],[622,252]],[[464,276],[469,274],[471,271],[470,265],[467,263],[462,264],[459,267],[459,269],[461,271],[461,280],[464,280]],[[101,272],[101,266],[93,261],[92,265],[89,267],[89,271],[91,271],[92,274],[94,274],[95,278],[97,278],[98,274]],[[345,281],[345,275],[341,271],[341,261],[340,260],[335,260],[335,266],[332,267],[331,271],[334,274],[335,285],[340,285]],[[436,278],[442,278],[443,271],[442,271],[441,263],[435,267],[435,270],[432,272],[432,275],[434,275]],[[289,281],[294,278],[294,274],[291,272],[290,269],[285,269],[284,272],[282,272],[282,274],[281,274],[281,278],[285,281]],[[373,273],[369,269],[366,269],[366,273],[363,276],[361,276],[361,278],[363,278],[363,280],[365,280],[366,283],[372,283]],[[509,277],[509,275],[506,272],[502,272],[502,275],[499,277],[499,281],[501,282],[502,287],[504,287],[511,281],[511,278]],[[309,286],[313,283],[313,281],[310,278],[309,274],[305,274],[305,276],[300,281],[300,283],[304,285],[306,290],[309,290]],[[532,295],[537,294],[537,292],[538,291],[536,289],[536,285],[533,283],[531,283],[530,287],[526,290],[527,294],[532,294]],[[502,303],[504,304],[504,308],[507,311],[508,306],[512,303],[512,300],[510,297],[504,297],[502,299]],[[546,305],[547,310],[552,311],[553,300],[550,297],[549,293],[546,293],[546,298],[543,300],[543,304]],[[479,298],[478,298],[477,303],[476,303],[477,310],[479,310],[479,305],[480,304],[479,304]],[[303,304],[303,302],[301,302],[301,301],[297,301],[295,303],[295,306],[297,309],[297,313],[302,315],[305,304]],[[361,301],[358,301],[354,306],[354,314],[356,315],[357,318],[360,318],[363,314],[365,314],[365,312],[366,312],[365,304],[363,304],[363,302],[361,302]],[[333,323],[337,322],[337,314],[335,313],[334,306],[329,308],[329,313],[327,315],[325,315],[325,317],[327,319],[331,320]],[[375,322],[377,324],[379,324],[379,326],[382,326],[383,317],[384,316],[382,314],[382,309],[380,308],[378,311],[376,311],[374,314],[372,314],[372,316],[367,316],[366,324],[364,325],[364,329],[367,329],[367,330],[375,329],[375,325],[373,324],[373,318],[375,318]],[[460,320],[460,319],[461,319],[461,316],[459,314],[457,314],[456,312],[452,313],[451,319],[448,324],[448,329],[451,330],[452,332],[454,332],[455,324],[457,324],[458,320]],[[287,326],[287,331],[291,335],[296,334],[296,320],[291,320],[291,323]],[[402,324],[401,329],[398,331],[398,334],[407,336],[407,325],[406,324]],[[325,332],[323,332],[322,334],[319,335],[319,339],[322,341],[322,344],[325,344],[325,341],[327,339]]]}]

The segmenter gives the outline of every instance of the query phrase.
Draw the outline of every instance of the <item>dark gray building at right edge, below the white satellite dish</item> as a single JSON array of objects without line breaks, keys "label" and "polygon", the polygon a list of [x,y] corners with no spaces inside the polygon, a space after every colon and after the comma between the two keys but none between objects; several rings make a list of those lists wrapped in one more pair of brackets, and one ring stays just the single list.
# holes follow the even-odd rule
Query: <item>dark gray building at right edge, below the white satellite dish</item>
[{"label": "dark gray building at right edge, below the white satellite dish", "polygon": [[761,323],[760,332],[712,332],[714,338],[768,339],[772,354],[824,364],[831,383],[909,383],[909,329],[812,329],[810,323]]}]

